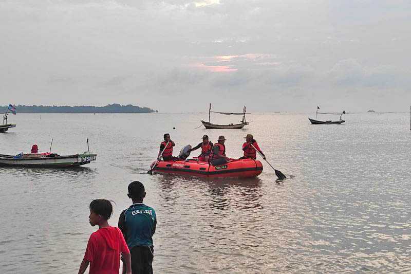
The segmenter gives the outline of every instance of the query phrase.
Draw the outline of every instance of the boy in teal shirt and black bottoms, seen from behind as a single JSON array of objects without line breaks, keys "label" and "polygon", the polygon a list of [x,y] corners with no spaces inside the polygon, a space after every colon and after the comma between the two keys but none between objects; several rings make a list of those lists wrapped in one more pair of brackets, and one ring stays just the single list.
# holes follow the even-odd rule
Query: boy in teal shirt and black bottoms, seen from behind
[{"label": "boy in teal shirt and black bottoms, seen from behind", "polygon": [[[143,204],[145,190],[139,181],[130,182],[127,196],[133,205],[120,214],[119,228],[130,249],[131,272],[133,274],[153,274],[153,235],[157,217],[153,208]],[[129,270],[123,262],[124,268]]]}]

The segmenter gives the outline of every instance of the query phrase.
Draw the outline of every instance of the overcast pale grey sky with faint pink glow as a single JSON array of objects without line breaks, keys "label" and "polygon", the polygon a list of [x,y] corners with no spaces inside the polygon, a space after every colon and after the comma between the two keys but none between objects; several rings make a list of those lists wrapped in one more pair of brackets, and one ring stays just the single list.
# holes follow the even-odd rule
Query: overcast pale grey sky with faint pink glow
[{"label": "overcast pale grey sky with faint pink glow", "polygon": [[0,0],[0,105],[407,111],[409,0]]}]

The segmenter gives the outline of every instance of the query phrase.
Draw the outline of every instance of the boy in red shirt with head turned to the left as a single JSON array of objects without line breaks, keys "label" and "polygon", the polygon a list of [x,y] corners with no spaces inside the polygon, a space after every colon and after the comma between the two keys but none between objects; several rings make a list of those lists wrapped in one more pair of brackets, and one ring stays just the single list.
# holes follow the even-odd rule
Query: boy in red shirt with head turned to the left
[{"label": "boy in red shirt with head turned to the left", "polygon": [[81,262],[79,274],[86,271],[90,264],[89,274],[118,274],[120,270],[120,253],[123,253],[127,274],[131,274],[130,251],[124,240],[123,233],[117,227],[108,225],[107,220],[113,213],[109,200],[97,199],[90,203],[90,225],[99,225],[99,230],[90,235],[84,259]]}]

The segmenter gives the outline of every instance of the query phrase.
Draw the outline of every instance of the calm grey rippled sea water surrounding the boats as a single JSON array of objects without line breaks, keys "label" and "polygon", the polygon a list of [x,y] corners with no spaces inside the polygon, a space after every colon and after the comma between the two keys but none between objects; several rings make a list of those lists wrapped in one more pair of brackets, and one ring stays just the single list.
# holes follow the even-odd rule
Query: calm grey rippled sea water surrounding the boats
[{"label": "calm grey rippled sea water surrounding the boats", "polygon": [[[308,114],[254,114],[244,130],[205,130],[208,114],[17,114],[0,153],[37,143],[60,155],[90,150],[78,169],[0,168],[2,273],[74,273],[87,240],[92,199],[114,200],[117,225],[140,180],[158,216],[156,273],[410,272],[409,114],[348,114],[343,125],[311,125]],[[237,122],[216,116],[214,121]],[[173,130],[173,127],[176,129]],[[272,165],[254,179],[148,175],[162,135],[176,150],[203,134],[227,138],[241,156],[251,133]],[[193,155],[193,154],[192,154]],[[194,152],[194,156],[197,153]]]}]

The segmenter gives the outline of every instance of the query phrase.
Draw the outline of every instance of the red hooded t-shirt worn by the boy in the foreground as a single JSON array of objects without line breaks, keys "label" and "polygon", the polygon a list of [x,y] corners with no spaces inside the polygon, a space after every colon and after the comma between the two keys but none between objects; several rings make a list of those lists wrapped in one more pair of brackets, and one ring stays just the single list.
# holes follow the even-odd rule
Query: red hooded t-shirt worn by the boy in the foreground
[{"label": "red hooded t-shirt worn by the boy in the foreground", "polygon": [[88,239],[84,259],[90,262],[89,273],[119,273],[120,253],[130,253],[123,233],[117,227],[104,227]]}]

